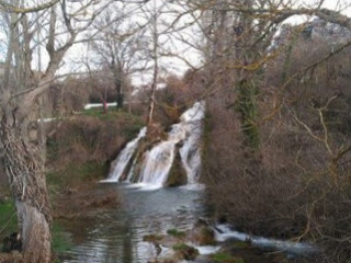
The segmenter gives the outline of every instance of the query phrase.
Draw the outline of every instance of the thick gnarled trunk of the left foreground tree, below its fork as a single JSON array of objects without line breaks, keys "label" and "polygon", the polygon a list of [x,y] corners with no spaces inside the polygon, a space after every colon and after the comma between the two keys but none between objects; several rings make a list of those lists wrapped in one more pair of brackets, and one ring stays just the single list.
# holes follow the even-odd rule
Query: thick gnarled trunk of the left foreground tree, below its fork
[{"label": "thick gnarled trunk of the left foreground tree, below its fork", "polygon": [[24,262],[48,263],[52,258],[52,210],[41,144],[27,117],[8,111],[1,122],[3,161],[15,199]]}]

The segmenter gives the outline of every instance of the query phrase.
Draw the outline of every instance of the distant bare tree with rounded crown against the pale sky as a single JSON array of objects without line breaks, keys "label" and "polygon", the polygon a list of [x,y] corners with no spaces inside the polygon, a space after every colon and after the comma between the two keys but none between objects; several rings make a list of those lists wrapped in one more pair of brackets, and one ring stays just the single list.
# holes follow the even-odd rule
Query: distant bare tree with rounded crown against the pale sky
[{"label": "distant bare tree with rounded crown against the pale sky", "polygon": [[[91,52],[95,55],[90,64],[95,70],[109,69],[106,78],[112,76],[116,90],[117,110],[123,107],[128,78],[147,66],[144,27],[129,22],[135,7],[123,4],[121,12],[106,10],[94,27],[100,33],[91,42]],[[109,76],[110,75],[110,76]]]}]

